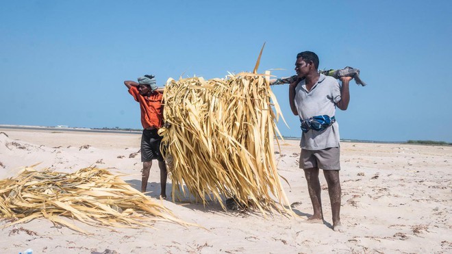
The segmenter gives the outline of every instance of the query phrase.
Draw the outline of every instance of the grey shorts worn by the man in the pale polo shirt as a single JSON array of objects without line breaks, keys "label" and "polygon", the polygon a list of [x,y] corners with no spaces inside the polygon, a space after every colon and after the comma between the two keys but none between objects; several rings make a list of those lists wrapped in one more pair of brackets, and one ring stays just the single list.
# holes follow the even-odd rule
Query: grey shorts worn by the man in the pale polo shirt
[{"label": "grey shorts worn by the man in the pale polo shirt", "polygon": [[340,147],[330,147],[323,150],[301,149],[300,168],[340,170]]}]

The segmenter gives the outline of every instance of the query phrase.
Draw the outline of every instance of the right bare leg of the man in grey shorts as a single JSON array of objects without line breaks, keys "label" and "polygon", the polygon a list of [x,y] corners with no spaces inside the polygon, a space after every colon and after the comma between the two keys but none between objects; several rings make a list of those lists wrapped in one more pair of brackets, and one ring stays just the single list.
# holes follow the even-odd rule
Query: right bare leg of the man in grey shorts
[{"label": "right bare leg of the man in grey shorts", "polygon": [[331,213],[333,214],[333,230],[342,232],[340,224],[340,179],[339,170],[323,170],[323,175],[328,184],[329,201],[331,202]]}]

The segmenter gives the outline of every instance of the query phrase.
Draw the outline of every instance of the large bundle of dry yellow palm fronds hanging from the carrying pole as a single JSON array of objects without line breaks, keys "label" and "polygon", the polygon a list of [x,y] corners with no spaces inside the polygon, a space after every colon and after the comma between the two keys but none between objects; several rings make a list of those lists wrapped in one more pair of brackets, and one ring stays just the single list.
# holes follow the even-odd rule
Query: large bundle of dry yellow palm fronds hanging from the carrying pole
[{"label": "large bundle of dry yellow palm fronds hanging from the carrying pole", "polygon": [[159,134],[172,161],[173,199],[186,194],[185,183],[198,200],[220,201],[223,209],[223,199],[233,198],[241,208],[287,212],[274,156],[280,110],[269,77],[254,72],[168,79],[164,119],[170,127]]}]

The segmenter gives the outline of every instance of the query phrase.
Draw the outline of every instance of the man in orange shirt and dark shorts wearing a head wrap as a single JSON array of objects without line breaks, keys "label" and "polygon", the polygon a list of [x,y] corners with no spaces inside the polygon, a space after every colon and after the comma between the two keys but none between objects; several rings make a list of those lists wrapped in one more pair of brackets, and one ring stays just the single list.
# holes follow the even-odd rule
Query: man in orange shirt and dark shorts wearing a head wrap
[{"label": "man in orange shirt and dark shorts wearing a head wrap", "polygon": [[129,88],[129,94],[135,101],[140,103],[141,124],[143,133],[141,136],[141,162],[143,163],[141,192],[146,192],[149,170],[152,160],[158,160],[160,168],[160,196],[166,199],[166,165],[160,152],[162,136],[157,134],[158,129],[163,126],[162,89],[158,89],[153,75],[138,77],[135,81],[124,81]]}]

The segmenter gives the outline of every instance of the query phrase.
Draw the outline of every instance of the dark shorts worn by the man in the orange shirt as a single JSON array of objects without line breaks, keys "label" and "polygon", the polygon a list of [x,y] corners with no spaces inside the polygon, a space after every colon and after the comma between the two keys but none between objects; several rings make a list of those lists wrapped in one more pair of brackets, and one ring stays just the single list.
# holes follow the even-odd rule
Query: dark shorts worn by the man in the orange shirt
[{"label": "dark shorts worn by the man in the orange shirt", "polygon": [[141,136],[141,162],[150,162],[158,160],[163,162],[162,153],[160,152],[160,143],[162,136],[157,134],[157,129],[144,129]]}]

